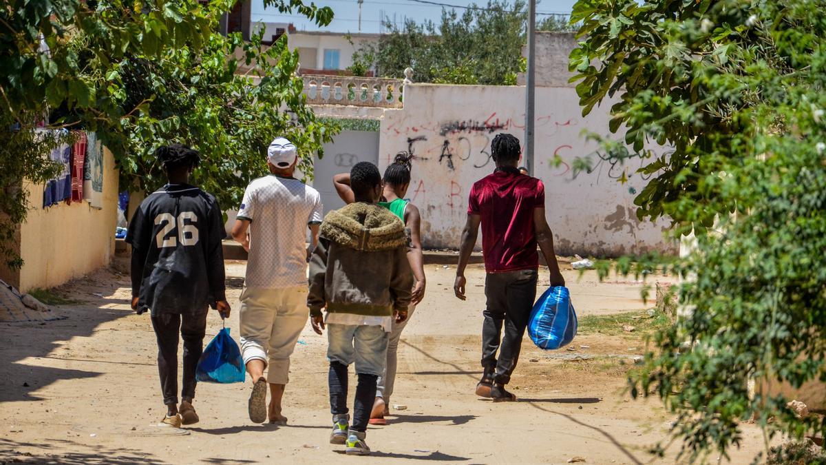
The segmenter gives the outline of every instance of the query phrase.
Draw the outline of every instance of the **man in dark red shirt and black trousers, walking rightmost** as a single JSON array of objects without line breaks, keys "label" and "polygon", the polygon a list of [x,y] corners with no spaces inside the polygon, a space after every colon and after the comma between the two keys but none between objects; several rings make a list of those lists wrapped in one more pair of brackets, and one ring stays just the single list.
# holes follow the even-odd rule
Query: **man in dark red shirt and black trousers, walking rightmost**
[{"label": "man in dark red shirt and black trousers, walking rightmost", "polygon": [[[487,308],[482,324],[484,373],[476,394],[494,402],[516,400],[505,386],[519,360],[522,336],[536,298],[537,244],[548,263],[550,284],[565,285],[553,252],[553,232],[545,220],[545,187],[541,180],[520,174],[516,167],[520,152],[519,139],[510,134],[500,134],[491,142],[496,170],[478,180],[470,191],[468,223],[462,232],[453,285],[456,296],[465,300],[464,271],[482,223]],[[503,324],[505,336],[501,338]]]}]

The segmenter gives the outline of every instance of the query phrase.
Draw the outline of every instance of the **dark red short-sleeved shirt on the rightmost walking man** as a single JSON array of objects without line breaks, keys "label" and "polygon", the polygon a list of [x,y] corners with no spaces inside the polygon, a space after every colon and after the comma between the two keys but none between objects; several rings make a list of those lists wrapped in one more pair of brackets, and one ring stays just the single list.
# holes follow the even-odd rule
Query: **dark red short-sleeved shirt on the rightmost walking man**
[{"label": "dark red short-sleeved shirt on the rightmost walking man", "polygon": [[539,267],[534,209],[545,206],[542,181],[518,172],[496,170],[470,190],[468,213],[482,216],[485,271]]}]

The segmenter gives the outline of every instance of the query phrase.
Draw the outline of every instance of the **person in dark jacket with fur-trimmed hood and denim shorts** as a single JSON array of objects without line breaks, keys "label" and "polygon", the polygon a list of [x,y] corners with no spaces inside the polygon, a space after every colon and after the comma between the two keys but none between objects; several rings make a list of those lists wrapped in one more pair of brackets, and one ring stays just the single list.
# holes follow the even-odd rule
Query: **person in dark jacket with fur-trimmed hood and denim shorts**
[{"label": "person in dark jacket with fur-trimmed hood and denim shorts", "polygon": [[[319,245],[310,261],[312,327],[327,329],[330,361],[330,443],[346,444],[346,453],[364,455],[376,380],[387,356],[393,319],[407,318],[413,278],[407,261],[404,224],[377,201],[382,178],[376,165],[361,162],[350,171],[355,203],[327,214]],[[321,309],[326,307],[326,320]],[[358,386],[353,423],[347,408],[347,367],[355,362]]]}]

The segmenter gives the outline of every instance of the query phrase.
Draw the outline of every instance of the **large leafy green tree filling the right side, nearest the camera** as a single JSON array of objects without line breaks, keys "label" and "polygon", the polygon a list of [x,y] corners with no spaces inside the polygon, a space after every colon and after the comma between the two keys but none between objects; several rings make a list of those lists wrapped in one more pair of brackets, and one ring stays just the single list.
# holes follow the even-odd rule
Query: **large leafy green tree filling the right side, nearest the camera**
[{"label": "large leafy green tree filling the right side, nearest the camera", "polygon": [[[656,394],[691,460],[742,441],[826,433],[748,382],[826,382],[826,12],[809,0],[580,0],[571,54],[582,113],[610,99],[615,161],[654,177],[638,217],[695,232],[690,314],[657,334],[634,395]],[[654,157],[647,142],[670,147]],[[689,341],[686,349],[684,342]]]}]

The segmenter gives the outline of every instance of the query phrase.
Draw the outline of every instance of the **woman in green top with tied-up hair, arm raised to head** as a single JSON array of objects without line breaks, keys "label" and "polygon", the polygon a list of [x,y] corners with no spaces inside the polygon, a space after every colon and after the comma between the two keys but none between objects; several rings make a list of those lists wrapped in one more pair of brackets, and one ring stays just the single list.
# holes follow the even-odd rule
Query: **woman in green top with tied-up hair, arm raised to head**
[{"label": "woman in green top with tied-up hair, arm raised to head", "polygon": [[[411,248],[407,252],[407,260],[410,261],[411,271],[415,277],[413,286],[411,305],[407,309],[407,319],[401,323],[393,322],[392,332],[387,342],[387,365],[384,376],[380,376],[377,381],[376,402],[373,405],[373,412],[370,414],[371,424],[387,424],[384,415],[389,414],[390,395],[393,393],[393,385],[396,381],[396,352],[399,347],[401,331],[405,328],[415,305],[425,298],[425,265],[422,259],[421,250],[421,217],[419,209],[409,200],[404,199],[407,188],[411,184],[411,158],[407,152],[401,151],[396,154],[393,163],[387,166],[382,179],[382,200],[378,203],[382,207],[390,210],[411,232]],[[350,189],[349,173],[335,175],[333,178],[335,190],[339,193],[344,202],[352,204],[354,202],[353,190]]]}]

